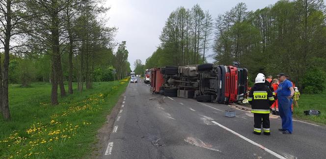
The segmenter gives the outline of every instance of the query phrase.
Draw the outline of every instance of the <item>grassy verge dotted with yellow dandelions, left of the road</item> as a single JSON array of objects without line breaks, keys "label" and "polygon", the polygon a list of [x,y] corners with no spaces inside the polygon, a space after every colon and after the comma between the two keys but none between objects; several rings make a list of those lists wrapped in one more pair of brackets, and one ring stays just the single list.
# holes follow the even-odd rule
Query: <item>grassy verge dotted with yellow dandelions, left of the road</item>
[{"label": "grassy verge dotted with yellow dandelions, left of the road", "polygon": [[[0,116],[0,159],[71,159],[92,152],[97,130],[128,85],[128,79],[95,82],[93,89],[50,105],[50,83],[9,86],[11,121]],[[74,86],[76,88],[76,86]]]}]

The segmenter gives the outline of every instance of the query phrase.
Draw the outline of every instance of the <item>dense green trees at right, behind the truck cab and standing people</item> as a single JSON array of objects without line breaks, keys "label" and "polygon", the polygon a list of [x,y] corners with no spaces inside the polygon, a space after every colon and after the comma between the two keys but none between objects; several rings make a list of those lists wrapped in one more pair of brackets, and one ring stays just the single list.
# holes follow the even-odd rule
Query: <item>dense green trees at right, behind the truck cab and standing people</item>
[{"label": "dense green trees at right, behind the truck cab and standing people", "polygon": [[248,11],[238,3],[216,19],[216,63],[239,61],[257,73],[284,72],[304,93],[321,93],[326,83],[326,9],[323,0],[279,0]]}]

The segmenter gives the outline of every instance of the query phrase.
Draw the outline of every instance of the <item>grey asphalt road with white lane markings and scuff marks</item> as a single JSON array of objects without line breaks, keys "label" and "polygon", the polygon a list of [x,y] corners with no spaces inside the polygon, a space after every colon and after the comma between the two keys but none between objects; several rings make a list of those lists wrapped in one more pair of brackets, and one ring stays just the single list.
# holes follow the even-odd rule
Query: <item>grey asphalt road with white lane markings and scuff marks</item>
[{"label": "grey asphalt road with white lane markings and scuff marks", "polygon": [[103,159],[325,159],[325,126],[294,121],[294,133],[282,134],[272,116],[272,135],[255,135],[248,111],[228,118],[230,106],[151,94],[149,87],[128,85]]}]

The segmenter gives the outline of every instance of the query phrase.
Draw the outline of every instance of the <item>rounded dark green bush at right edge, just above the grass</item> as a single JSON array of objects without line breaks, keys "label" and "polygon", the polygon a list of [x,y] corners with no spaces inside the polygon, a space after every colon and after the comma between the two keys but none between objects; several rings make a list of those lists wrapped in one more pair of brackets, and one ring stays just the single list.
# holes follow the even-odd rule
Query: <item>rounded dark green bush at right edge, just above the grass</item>
[{"label": "rounded dark green bush at right edge, just above the grass", "polygon": [[319,67],[307,70],[302,79],[303,93],[316,94],[325,90],[326,72]]}]

